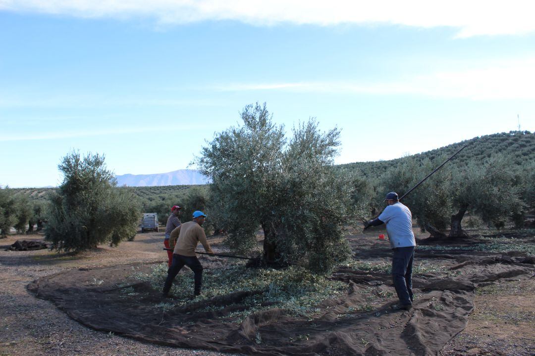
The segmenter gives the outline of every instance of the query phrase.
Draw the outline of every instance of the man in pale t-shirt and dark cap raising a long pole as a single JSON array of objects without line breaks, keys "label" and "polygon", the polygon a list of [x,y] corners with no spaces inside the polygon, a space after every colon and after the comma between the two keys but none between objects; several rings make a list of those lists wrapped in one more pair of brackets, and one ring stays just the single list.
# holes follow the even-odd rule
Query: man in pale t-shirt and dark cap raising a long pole
[{"label": "man in pale t-shirt and dark cap raising a long pole", "polygon": [[386,232],[390,246],[394,250],[392,258],[392,278],[401,308],[409,310],[412,307],[412,261],[416,241],[412,232],[412,214],[409,208],[400,203],[398,194],[386,194],[388,206],[377,219],[366,221],[364,230],[370,226],[386,224]]}]

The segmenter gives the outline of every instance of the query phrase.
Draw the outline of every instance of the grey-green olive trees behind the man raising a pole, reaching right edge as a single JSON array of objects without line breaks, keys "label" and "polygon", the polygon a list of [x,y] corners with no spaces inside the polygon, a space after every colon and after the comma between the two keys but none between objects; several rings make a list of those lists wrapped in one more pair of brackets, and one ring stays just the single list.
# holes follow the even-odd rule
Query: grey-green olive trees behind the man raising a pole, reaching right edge
[{"label": "grey-green olive trees behind the man raising a pole, reaching right edge", "polygon": [[[465,151],[471,148],[468,146]],[[355,175],[353,203],[365,211],[364,216],[374,215],[384,208],[385,192],[403,195],[446,158],[438,156],[431,161],[406,157],[399,164],[376,172],[374,176],[379,178],[363,179]],[[505,226],[507,221],[523,227],[526,215],[535,209],[534,168],[533,162],[518,165],[500,152],[467,164],[458,164],[454,159],[410,193],[403,203],[411,209],[419,225],[435,238],[466,236],[462,221],[467,213],[496,228]]]}]

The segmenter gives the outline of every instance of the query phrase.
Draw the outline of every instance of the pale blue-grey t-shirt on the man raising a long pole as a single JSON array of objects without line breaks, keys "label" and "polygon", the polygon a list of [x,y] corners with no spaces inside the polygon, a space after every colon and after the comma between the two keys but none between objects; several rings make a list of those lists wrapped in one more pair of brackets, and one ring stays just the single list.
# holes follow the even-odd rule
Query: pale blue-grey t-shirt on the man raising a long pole
[{"label": "pale blue-grey t-shirt on the man raising a long pole", "polygon": [[388,205],[378,219],[386,224],[392,248],[416,246],[412,232],[412,214],[405,205],[400,202]]}]

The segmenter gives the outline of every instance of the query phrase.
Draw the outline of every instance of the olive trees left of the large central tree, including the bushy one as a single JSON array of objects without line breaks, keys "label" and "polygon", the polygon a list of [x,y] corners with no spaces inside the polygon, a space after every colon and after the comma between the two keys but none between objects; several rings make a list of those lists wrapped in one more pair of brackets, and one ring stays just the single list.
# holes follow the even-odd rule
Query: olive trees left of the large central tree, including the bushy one
[{"label": "olive trees left of the large central tree, including the bushy one", "polygon": [[68,154],[59,169],[64,181],[58,188],[0,187],[0,237],[12,228],[27,234],[47,226],[53,247],[83,250],[131,239],[141,212],[157,212],[165,225],[172,205],[184,208],[182,221],[191,220],[194,210],[207,209],[206,186],[118,187],[98,154]]}]

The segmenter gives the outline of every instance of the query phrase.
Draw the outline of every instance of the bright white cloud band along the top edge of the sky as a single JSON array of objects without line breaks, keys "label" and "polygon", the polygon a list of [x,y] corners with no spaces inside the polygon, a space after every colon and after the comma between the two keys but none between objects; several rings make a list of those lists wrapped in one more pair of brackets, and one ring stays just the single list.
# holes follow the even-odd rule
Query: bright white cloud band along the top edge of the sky
[{"label": "bright white cloud band along the top edge of the sky", "polygon": [[152,17],[161,23],[235,20],[252,25],[281,22],[454,27],[458,37],[535,31],[531,0],[0,0],[0,10],[77,17]]}]

